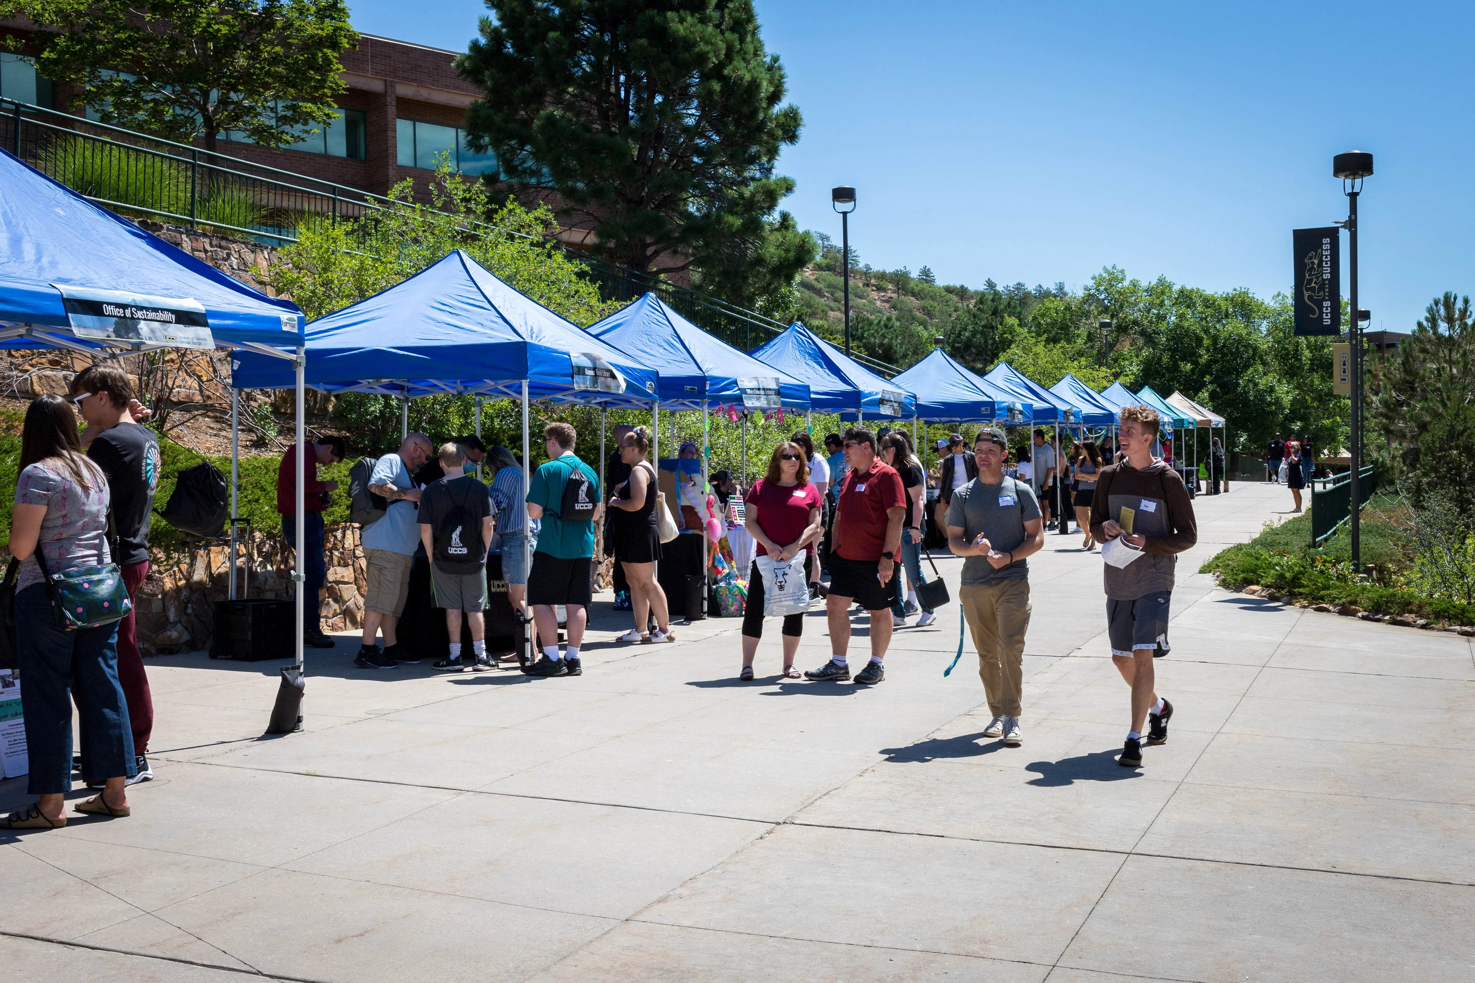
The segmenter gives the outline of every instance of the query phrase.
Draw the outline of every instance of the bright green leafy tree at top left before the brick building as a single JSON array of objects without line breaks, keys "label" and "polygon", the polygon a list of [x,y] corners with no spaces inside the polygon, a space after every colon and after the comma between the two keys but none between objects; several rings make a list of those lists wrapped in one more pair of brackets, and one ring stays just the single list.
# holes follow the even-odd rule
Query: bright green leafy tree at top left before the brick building
[{"label": "bright green leafy tree at top left before the brick building", "polygon": [[335,118],[344,0],[15,0],[47,25],[41,72],[103,122],[214,150],[223,131],[279,147]]}]

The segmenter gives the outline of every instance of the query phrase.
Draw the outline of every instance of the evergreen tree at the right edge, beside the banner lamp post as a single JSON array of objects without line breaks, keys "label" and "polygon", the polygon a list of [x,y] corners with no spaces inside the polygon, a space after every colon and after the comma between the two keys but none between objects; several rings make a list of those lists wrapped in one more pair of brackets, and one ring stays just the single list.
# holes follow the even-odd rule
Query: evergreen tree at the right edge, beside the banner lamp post
[{"label": "evergreen tree at the right edge, beside the banner lamp post", "polygon": [[1443,497],[1475,523],[1475,320],[1446,293],[1397,354],[1373,360],[1372,423],[1406,472],[1415,504]]}]

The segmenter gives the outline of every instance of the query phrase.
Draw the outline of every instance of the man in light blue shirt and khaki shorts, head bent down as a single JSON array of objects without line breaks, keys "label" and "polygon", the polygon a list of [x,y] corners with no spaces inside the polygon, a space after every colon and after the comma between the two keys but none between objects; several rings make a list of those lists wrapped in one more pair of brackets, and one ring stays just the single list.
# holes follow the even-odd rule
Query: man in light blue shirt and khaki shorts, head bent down
[{"label": "man in light blue shirt and khaki shorts, head bent down", "polygon": [[[410,595],[410,566],[420,545],[420,522],[416,511],[420,488],[413,475],[434,452],[431,438],[412,433],[394,454],[385,454],[373,466],[369,491],[385,500],[384,517],[360,534],[364,550],[364,631],[354,665],[360,669],[394,669],[401,662],[419,662],[400,647],[395,625]],[[375,646],[384,629],[384,651]]]}]

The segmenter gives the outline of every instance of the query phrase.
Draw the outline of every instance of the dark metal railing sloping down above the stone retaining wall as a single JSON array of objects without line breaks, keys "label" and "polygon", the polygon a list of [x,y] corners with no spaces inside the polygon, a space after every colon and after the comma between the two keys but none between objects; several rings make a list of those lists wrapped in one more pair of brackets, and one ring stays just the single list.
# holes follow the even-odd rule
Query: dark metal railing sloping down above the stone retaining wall
[{"label": "dark metal railing sloping down above the stone retaining wall", "polygon": [[[398,206],[345,184],[3,97],[0,146],[106,208],[274,245],[296,242],[299,230],[313,223],[355,221]],[[606,301],[633,301],[653,292],[693,324],[742,351],[788,329],[701,290],[558,246],[584,267]],[[901,371],[866,355],[857,360],[886,377]]]}]

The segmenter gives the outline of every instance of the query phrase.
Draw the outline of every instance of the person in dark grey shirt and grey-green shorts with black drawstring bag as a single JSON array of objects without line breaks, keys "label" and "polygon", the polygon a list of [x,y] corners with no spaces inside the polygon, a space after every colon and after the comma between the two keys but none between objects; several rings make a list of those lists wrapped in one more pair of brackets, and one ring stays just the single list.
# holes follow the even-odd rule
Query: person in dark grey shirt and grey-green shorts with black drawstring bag
[{"label": "person in dark grey shirt and grey-green shorts with black drawstring bag", "polygon": [[466,451],[442,444],[437,455],[445,473],[420,492],[420,542],[431,559],[431,594],[445,609],[450,653],[437,669],[462,671],[462,615],[471,628],[472,669],[491,669],[487,659],[487,554],[497,511],[491,492],[475,475],[463,473]]}]

